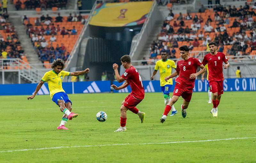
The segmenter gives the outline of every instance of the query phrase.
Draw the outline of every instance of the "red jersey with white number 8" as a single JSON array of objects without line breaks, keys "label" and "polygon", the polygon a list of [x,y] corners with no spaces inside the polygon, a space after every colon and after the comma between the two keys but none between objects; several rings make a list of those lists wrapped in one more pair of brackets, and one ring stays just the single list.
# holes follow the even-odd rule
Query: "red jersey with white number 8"
[{"label": "red jersey with white number 8", "polygon": [[193,89],[195,86],[195,79],[190,79],[191,74],[195,74],[197,67],[201,66],[202,63],[200,59],[188,58],[187,60],[180,60],[177,63],[176,71],[179,73],[179,77],[175,82],[181,84],[187,89]]}]

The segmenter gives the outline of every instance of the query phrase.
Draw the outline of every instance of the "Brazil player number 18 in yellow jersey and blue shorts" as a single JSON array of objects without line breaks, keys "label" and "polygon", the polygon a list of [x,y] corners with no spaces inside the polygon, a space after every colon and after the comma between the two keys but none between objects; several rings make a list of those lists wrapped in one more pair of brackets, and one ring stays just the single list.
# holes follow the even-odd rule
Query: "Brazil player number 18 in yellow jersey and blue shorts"
[{"label": "Brazil player number 18 in yellow jersey and blue shorts", "polygon": [[[164,104],[167,105],[169,101],[171,101],[170,98],[170,90],[172,88],[172,78],[169,79],[167,82],[164,80],[165,77],[170,76],[172,74],[172,68],[176,69],[175,62],[173,60],[168,59],[168,54],[165,50],[161,51],[161,60],[156,61],[155,70],[151,76],[151,80],[154,80],[154,76],[157,73],[157,70],[159,69],[160,73],[160,86],[162,89],[162,92],[164,94]],[[177,110],[172,105],[172,114],[171,116],[177,114]]]}]

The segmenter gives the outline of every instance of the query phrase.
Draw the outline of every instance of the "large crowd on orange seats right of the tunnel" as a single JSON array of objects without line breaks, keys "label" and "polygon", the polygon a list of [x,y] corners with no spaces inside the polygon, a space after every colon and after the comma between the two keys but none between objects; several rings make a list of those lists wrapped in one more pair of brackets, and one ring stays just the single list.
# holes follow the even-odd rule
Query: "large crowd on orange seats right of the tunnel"
[{"label": "large crowd on orange seats right of the tunnel", "polygon": [[[203,50],[209,51],[210,41],[218,43],[218,51],[221,52],[224,51],[225,46],[230,45],[230,48],[225,50],[228,55],[250,55],[252,50],[256,50],[254,9],[256,3],[250,8],[245,2],[245,5],[238,9],[235,6],[226,8],[215,5],[210,11],[214,17],[210,15],[205,17],[201,14],[207,10],[203,5],[193,16],[190,13],[174,15],[170,10],[158,39],[151,44],[149,58],[155,59],[161,49],[167,50],[169,58],[175,58],[175,48],[180,46],[179,42],[186,42],[190,50],[202,47]],[[232,24],[231,19],[233,19]],[[227,28],[236,28],[236,31],[232,33]]]}]

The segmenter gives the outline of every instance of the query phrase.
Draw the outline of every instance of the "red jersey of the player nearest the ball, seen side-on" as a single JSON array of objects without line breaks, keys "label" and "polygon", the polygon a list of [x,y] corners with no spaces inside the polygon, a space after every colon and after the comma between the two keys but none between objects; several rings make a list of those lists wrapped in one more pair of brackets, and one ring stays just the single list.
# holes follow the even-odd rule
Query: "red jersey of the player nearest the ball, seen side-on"
[{"label": "red jersey of the player nearest the ball, seen side-on", "polygon": [[122,75],[122,78],[129,82],[132,88],[132,96],[134,98],[142,100],[144,98],[145,92],[144,87],[142,85],[142,79],[136,68],[134,68],[133,66],[127,68],[125,70],[125,73]]}]

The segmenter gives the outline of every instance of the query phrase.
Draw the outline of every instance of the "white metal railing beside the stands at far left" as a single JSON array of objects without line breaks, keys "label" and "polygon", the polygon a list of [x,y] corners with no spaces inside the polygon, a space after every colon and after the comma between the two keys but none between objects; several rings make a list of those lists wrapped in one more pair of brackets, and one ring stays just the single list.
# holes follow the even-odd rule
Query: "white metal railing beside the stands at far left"
[{"label": "white metal railing beside the stands at far left", "polygon": [[18,72],[18,83],[20,83],[21,77],[31,83],[37,83],[44,75],[43,71],[37,69],[34,65],[29,64],[20,58],[0,59],[0,70],[2,72],[3,84],[5,72]]}]

